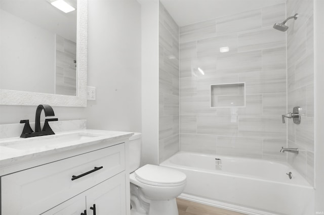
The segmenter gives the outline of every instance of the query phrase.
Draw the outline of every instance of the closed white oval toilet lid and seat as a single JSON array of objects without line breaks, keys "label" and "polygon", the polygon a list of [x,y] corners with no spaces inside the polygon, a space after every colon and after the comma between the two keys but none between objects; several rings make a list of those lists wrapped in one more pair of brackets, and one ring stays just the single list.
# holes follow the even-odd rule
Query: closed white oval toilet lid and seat
[{"label": "closed white oval toilet lid and seat", "polygon": [[135,171],[138,181],[154,186],[178,186],[185,183],[187,176],[177,170],[156,165],[145,165]]}]

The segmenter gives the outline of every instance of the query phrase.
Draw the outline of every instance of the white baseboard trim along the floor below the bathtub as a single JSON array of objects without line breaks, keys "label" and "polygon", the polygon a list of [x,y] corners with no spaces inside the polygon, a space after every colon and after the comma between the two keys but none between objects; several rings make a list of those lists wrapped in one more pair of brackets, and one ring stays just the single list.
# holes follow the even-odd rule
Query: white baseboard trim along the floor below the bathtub
[{"label": "white baseboard trim along the floor below the bathtub", "polygon": [[188,194],[181,194],[180,196],[178,196],[178,198],[198,202],[201,204],[207,204],[210,206],[219,207],[219,208],[223,208],[223,209],[227,209],[227,210],[232,210],[232,211],[236,211],[236,212],[240,212],[240,213],[245,213],[245,214],[249,214],[249,215],[278,215],[276,213],[271,213],[271,212],[262,211],[262,210],[256,210],[253,208],[242,207],[242,206],[224,203],[224,202],[220,202],[220,201],[214,201],[211,199],[201,198],[198,196],[193,196],[193,195],[188,195]]}]

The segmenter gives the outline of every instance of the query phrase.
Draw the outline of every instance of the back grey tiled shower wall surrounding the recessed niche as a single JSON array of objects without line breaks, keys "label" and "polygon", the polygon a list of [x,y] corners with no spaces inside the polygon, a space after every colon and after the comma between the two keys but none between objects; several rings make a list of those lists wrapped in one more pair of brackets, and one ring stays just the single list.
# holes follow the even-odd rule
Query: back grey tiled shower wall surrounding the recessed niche
[{"label": "back grey tiled shower wall surrounding the recessed niche", "polygon": [[[287,159],[286,34],[272,28],[285,18],[278,4],[180,27],[181,150]],[[211,85],[238,82],[245,108],[210,108]]]}]

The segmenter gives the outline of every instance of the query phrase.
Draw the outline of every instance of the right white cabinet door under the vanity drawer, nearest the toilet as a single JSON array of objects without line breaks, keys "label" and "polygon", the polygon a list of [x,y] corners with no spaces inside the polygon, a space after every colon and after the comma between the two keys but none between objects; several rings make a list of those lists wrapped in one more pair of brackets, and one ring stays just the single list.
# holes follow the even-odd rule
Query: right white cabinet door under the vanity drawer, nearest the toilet
[{"label": "right white cabinet door under the vanity drawer, nearest the toilet", "polygon": [[[90,209],[90,207],[93,207],[93,209]],[[94,213],[94,208],[96,213]],[[125,172],[87,191],[87,214],[126,214]]]}]

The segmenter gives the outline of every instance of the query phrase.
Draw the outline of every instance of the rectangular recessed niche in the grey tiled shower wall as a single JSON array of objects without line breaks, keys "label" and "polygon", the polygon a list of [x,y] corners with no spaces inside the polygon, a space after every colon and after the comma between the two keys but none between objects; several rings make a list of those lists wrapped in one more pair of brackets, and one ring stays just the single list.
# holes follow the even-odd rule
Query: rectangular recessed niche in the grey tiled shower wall
[{"label": "rectangular recessed niche in the grey tiled shower wall", "polygon": [[211,85],[211,108],[245,107],[245,83]]}]

